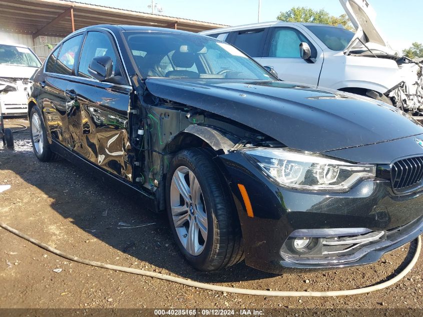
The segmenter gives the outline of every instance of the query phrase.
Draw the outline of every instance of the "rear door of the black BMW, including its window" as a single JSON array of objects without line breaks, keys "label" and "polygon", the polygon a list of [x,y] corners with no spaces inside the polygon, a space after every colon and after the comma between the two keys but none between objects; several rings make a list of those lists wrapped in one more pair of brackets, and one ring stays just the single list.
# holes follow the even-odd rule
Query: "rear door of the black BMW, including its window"
[{"label": "rear door of the black BMW, including its window", "polygon": [[60,47],[49,57],[43,76],[36,83],[40,86],[38,96],[42,105],[43,115],[48,132],[52,139],[72,148],[72,140],[68,127],[68,96],[69,80],[73,78],[76,57],[79,54],[84,34],[76,35]]}]

